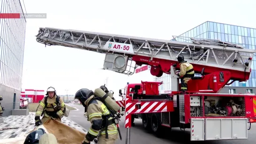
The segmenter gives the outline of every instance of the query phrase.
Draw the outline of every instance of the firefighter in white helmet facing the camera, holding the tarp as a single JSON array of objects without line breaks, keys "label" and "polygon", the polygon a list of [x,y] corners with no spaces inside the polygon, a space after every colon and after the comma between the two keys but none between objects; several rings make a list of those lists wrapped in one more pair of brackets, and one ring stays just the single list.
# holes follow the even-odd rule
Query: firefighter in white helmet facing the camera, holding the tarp
[{"label": "firefighter in white helmet facing the camera, holding the tarp", "polygon": [[[66,111],[64,101],[61,97],[56,95],[54,87],[49,87],[47,89],[46,95],[47,97],[41,100],[36,111],[36,126],[39,126],[51,118],[57,121],[61,121]],[[40,120],[40,116],[43,116],[42,120]]]}]

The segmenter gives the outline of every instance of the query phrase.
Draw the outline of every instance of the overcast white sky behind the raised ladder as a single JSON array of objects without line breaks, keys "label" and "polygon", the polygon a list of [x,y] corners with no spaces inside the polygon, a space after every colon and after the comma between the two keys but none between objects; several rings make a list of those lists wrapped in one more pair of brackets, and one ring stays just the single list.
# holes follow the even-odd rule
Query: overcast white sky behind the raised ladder
[{"label": "overcast white sky behind the raised ladder", "polygon": [[[152,81],[150,72],[125,76],[103,68],[104,54],[36,42],[39,27],[85,30],[145,38],[172,39],[206,21],[256,28],[256,0],[23,0],[27,13],[47,13],[27,19],[23,89],[74,94],[104,84],[118,94],[125,83]],[[67,1],[67,2],[66,2]]]}]

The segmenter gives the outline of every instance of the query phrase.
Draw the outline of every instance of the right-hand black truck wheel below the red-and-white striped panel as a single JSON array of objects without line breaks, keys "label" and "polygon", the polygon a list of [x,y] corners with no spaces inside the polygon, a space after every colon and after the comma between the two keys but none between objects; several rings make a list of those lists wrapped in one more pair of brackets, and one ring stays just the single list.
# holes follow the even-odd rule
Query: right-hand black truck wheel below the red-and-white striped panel
[{"label": "right-hand black truck wheel below the red-and-white striped panel", "polygon": [[162,126],[161,126],[161,117],[159,114],[153,113],[151,115],[151,129],[155,133],[156,136],[162,135]]}]

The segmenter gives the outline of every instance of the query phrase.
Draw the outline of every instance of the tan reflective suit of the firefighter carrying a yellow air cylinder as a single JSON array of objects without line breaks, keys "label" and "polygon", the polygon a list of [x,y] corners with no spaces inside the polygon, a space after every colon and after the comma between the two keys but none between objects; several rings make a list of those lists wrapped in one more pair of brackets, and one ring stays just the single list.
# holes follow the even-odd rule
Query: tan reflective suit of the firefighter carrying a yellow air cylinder
[{"label": "tan reflective suit of the firefighter carrying a yellow air cylinder", "polygon": [[106,135],[107,133],[106,137],[116,137],[118,134],[116,123],[110,115],[107,106],[100,100],[95,99],[94,96],[87,99],[85,105],[87,106],[88,121],[92,124],[87,133],[87,135],[92,136],[88,135],[88,137],[96,137],[100,132],[101,135]]}]

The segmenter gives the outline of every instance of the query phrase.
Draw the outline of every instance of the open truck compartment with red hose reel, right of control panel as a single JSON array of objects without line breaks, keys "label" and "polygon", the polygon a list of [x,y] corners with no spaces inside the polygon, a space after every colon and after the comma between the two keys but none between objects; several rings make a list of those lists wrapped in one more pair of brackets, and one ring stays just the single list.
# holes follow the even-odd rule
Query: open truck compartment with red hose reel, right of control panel
[{"label": "open truck compartment with red hose reel, right of control panel", "polygon": [[244,97],[204,96],[204,116],[245,116]]}]

